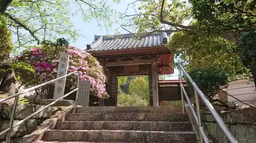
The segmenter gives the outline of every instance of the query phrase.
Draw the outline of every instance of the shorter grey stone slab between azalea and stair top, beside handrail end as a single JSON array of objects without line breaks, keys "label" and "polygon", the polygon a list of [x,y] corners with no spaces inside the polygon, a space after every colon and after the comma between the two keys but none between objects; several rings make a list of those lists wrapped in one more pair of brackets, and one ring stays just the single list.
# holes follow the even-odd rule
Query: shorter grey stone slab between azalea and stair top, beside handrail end
[{"label": "shorter grey stone slab between azalea and stair top, beside handrail end", "polygon": [[79,91],[78,91],[77,105],[80,105],[83,107],[89,106],[90,88],[91,88],[90,81],[80,80],[78,86],[79,86]]}]

